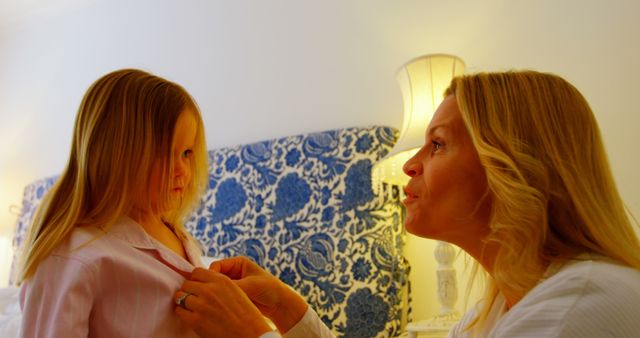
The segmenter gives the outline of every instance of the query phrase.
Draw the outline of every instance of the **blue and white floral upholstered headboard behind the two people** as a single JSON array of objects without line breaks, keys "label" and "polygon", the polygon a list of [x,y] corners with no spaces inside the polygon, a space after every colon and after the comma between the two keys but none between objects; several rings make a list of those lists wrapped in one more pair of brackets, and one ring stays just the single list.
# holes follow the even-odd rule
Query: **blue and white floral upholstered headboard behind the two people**
[{"label": "blue and white floral upholstered headboard behind the two people", "polygon": [[[396,138],[347,128],[212,150],[186,227],[209,256],[249,256],[291,285],[338,336],[397,336],[409,309],[402,208],[395,187],[371,187]],[[44,188],[27,189],[39,198]]]}]

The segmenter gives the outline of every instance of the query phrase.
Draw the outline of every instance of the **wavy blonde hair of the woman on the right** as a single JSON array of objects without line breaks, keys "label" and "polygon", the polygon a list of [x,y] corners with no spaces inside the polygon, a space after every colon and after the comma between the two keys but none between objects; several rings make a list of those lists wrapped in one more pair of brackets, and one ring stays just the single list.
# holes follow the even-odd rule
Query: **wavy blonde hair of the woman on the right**
[{"label": "wavy blonde hair of the woman on the right", "polygon": [[485,305],[471,327],[486,320],[498,290],[519,300],[549,264],[580,253],[640,269],[633,217],[593,112],[574,86],[534,71],[480,73],[454,78],[450,94],[486,170],[492,196],[486,241],[499,247]]}]

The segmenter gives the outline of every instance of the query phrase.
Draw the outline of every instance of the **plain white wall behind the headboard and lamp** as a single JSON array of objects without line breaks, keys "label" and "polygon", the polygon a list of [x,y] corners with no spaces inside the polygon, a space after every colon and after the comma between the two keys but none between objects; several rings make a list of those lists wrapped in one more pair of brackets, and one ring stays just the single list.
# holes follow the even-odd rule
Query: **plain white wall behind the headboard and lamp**
[{"label": "plain white wall behind the headboard and lamp", "polygon": [[[80,98],[108,71],[138,67],[183,84],[202,108],[213,148],[337,127],[399,127],[395,71],[427,53],[458,55],[469,72],[532,68],[575,84],[597,114],[620,191],[640,215],[638,1],[48,6],[0,25],[0,237],[13,231],[8,209],[20,203],[22,187],[62,170]],[[414,318],[425,318],[437,311],[434,266],[425,264],[433,243],[411,238],[408,251],[420,262]],[[0,285],[5,279],[0,271]]]}]

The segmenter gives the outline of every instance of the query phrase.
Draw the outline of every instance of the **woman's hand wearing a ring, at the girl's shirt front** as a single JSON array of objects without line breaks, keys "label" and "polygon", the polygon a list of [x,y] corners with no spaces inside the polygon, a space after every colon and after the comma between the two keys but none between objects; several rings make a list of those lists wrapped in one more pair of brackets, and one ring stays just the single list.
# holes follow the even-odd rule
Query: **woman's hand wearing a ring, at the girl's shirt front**
[{"label": "woman's hand wearing a ring, at the girl's shirt front", "polygon": [[196,268],[174,295],[184,299],[175,313],[201,337],[256,338],[271,331],[260,311],[224,274]]}]

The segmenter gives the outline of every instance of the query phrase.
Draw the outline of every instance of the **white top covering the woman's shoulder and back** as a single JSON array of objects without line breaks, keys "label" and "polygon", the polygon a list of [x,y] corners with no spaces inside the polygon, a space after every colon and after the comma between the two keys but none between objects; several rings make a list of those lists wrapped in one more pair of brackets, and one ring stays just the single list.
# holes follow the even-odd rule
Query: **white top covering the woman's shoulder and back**
[{"label": "white top covering the woman's shoulder and back", "polygon": [[506,311],[498,297],[477,335],[464,331],[467,312],[448,338],[640,337],[640,271],[605,260],[574,261]]}]

